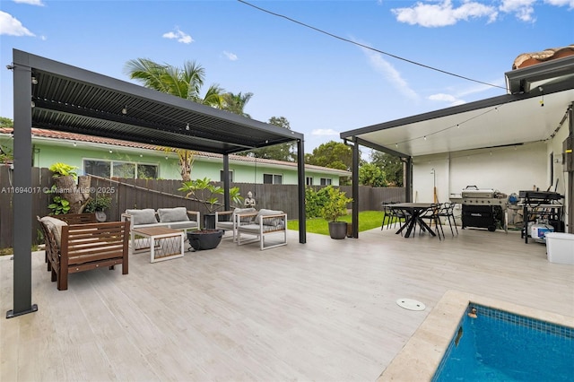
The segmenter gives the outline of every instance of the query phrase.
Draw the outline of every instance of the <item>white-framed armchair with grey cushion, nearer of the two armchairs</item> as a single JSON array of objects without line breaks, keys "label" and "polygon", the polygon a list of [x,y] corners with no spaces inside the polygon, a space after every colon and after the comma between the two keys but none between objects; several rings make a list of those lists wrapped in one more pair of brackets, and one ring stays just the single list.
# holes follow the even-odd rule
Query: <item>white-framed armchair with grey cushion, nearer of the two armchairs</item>
[{"label": "white-framed armchair with grey cushion, nearer of the two armchairs", "polygon": [[[240,221],[254,218],[247,224]],[[258,241],[261,250],[287,245],[287,213],[283,211],[261,209],[258,213],[237,213],[235,215],[237,244],[253,243]],[[283,234],[283,240],[278,244],[265,246],[265,237],[272,234]],[[246,235],[250,239],[246,239]]]}]

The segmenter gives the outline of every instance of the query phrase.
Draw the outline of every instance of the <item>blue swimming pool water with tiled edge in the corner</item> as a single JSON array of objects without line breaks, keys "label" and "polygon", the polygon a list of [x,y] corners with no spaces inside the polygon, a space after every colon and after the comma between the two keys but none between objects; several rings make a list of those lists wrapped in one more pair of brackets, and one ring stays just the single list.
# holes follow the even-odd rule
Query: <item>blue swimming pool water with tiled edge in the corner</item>
[{"label": "blue swimming pool water with tiled edge in the corner", "polygon": [[471,308],[432,381],[574,381],[574,328]]}]

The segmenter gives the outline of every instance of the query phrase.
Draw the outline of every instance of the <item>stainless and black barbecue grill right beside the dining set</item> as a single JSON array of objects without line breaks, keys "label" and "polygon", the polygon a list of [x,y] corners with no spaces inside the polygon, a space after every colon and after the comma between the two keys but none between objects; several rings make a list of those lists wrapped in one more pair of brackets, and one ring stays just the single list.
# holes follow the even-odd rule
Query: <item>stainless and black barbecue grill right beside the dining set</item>
[{"label": "stainless and black barbecue grill right beside the dining set", "polygon": [[507,230],[505,212],[509,200],[506,194],[493,188],[467,186],[463,189],[461,196],[463,229],[475,227],[493,232],[498,225],[501,225],[504,230]]}]

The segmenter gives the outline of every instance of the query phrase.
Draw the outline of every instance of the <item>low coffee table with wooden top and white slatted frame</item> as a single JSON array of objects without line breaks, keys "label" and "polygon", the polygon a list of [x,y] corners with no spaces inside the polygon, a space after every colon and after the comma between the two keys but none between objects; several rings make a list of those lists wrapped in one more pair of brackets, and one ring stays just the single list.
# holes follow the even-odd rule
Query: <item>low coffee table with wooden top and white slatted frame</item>
[{"label": "low coffee table with wooden top and white slatted frame", "polygon": [[[148,239],[149,247],[135,247],[135,236]],[[183,257],[185,235],[182,230],[172,230],[167,227],[135,228],[131,230],[131,249],[135,251],[150,251],[150,262],[170,260]]]}]

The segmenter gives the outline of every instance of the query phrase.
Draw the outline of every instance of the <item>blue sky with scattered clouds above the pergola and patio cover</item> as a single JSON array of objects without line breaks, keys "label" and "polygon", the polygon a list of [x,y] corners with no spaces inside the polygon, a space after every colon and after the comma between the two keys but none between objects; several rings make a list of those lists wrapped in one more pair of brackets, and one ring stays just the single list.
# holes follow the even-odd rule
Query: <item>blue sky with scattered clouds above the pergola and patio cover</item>
[{"label": "blue sky with scattered clouds above the pergola and patio cover", "polygon": [[573,43],[574,0],[0,0],[0,117],[13,48],[126,82],[131,59],[196,61],[204,91],[253,93],[245,112],[287,118],[312,152],[505,94],[517,56]]}]

